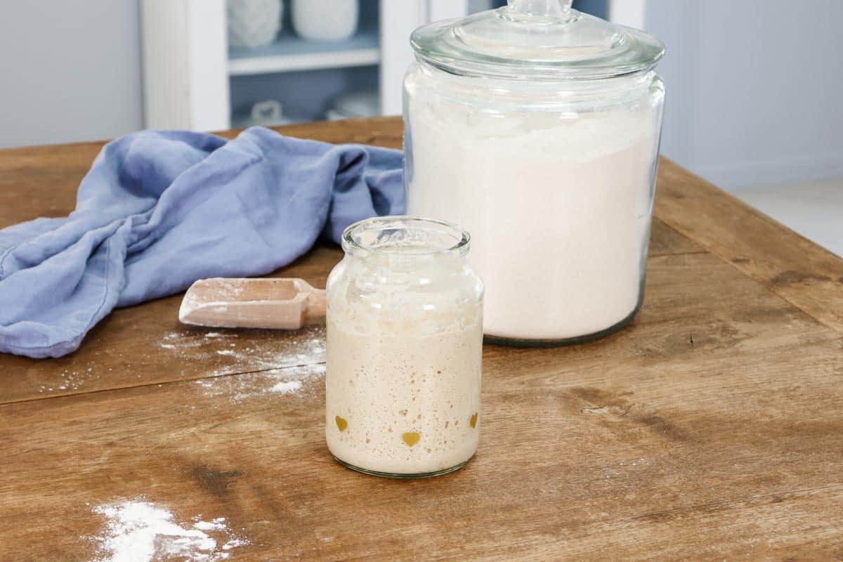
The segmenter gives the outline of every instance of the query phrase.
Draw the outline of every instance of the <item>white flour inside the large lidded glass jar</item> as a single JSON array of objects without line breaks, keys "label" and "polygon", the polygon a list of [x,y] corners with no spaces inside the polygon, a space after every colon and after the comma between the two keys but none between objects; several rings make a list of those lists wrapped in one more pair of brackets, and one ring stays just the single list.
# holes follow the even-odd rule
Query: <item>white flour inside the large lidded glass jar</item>
[{"label": "white flour inside the large lidded glass jar", "polygon": [[411,97],[408,211],[471,233],[487,335],[564,340],[636,309],[659,115],[486,115],[422,88]]}]

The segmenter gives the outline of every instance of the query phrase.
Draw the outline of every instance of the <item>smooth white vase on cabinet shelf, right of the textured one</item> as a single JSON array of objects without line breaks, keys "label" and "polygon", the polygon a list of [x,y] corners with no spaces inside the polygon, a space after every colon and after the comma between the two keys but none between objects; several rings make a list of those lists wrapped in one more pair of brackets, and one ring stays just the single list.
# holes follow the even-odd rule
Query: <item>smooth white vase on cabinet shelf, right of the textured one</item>
[{"label": "smooth white vase on cabinet shelf, right of the textured one", "polygon": [[303,39],[340,41],[357,31],[358,0],[293,0],[293,29]]}]

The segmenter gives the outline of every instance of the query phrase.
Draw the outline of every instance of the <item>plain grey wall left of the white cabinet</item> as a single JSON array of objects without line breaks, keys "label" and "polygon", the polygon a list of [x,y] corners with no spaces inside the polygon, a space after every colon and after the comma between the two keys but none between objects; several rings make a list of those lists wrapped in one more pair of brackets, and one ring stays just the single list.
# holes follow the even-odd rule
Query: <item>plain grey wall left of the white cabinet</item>
[{"label": "plain grey wall left of the white cabinet", "polygon": [[0,147],[142,127],[137,0],[0,0]]}]

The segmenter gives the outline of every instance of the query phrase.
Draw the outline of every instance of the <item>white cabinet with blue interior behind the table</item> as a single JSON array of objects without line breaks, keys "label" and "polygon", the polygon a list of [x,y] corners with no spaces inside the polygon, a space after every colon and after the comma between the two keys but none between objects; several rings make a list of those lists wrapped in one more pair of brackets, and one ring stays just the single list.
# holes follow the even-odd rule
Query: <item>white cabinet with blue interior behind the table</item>
[{"label": "white cabinet with blue interior behind the table", "polygon": [[[360,0],[357,33],[349,40],[323,42],[293,33],[289,0],[284,1],[275,42],[245,50],[228,48],[225,0],[142,0],[145,126],[214,131],[262,124],[251,110],[266,100],[276,110],[266,120],[280,122],[278,105],[284,121],[321,120],[342,116],[330,108],[344,94],[355,93],[373,102],[368,111],[398,115],[401,79],[412,61],[412,30],[506,3]],[[621,23],[639,26],[640,9],[643,20],[645,0],[579,2],[579,8],[601,16],[617,10]]]}]

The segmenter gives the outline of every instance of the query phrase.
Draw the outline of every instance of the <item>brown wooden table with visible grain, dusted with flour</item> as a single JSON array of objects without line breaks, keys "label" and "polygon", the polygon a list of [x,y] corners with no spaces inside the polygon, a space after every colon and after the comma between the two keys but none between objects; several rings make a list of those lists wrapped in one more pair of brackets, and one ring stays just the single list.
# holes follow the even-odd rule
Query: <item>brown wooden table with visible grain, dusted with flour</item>
[{"label": "brown wooden table with visible grain, dusted with flour", "polygon": [[[401,126],[282,131],[399,147]],[[67,215],[100,146],[0,152],[0,227]],[[0,356],[3,560],[108,559],[96,511],[132,499],[225,517],[213,560],[226,537],[238,561],[843,559],[843,260],[667,160],[657,193],[641,313],[486,345],[480,451],[441,478],[330,458],[319,329],[209,337],[176,296],[72,356]],[[340,256],[282,273],[318,285]]]}]

